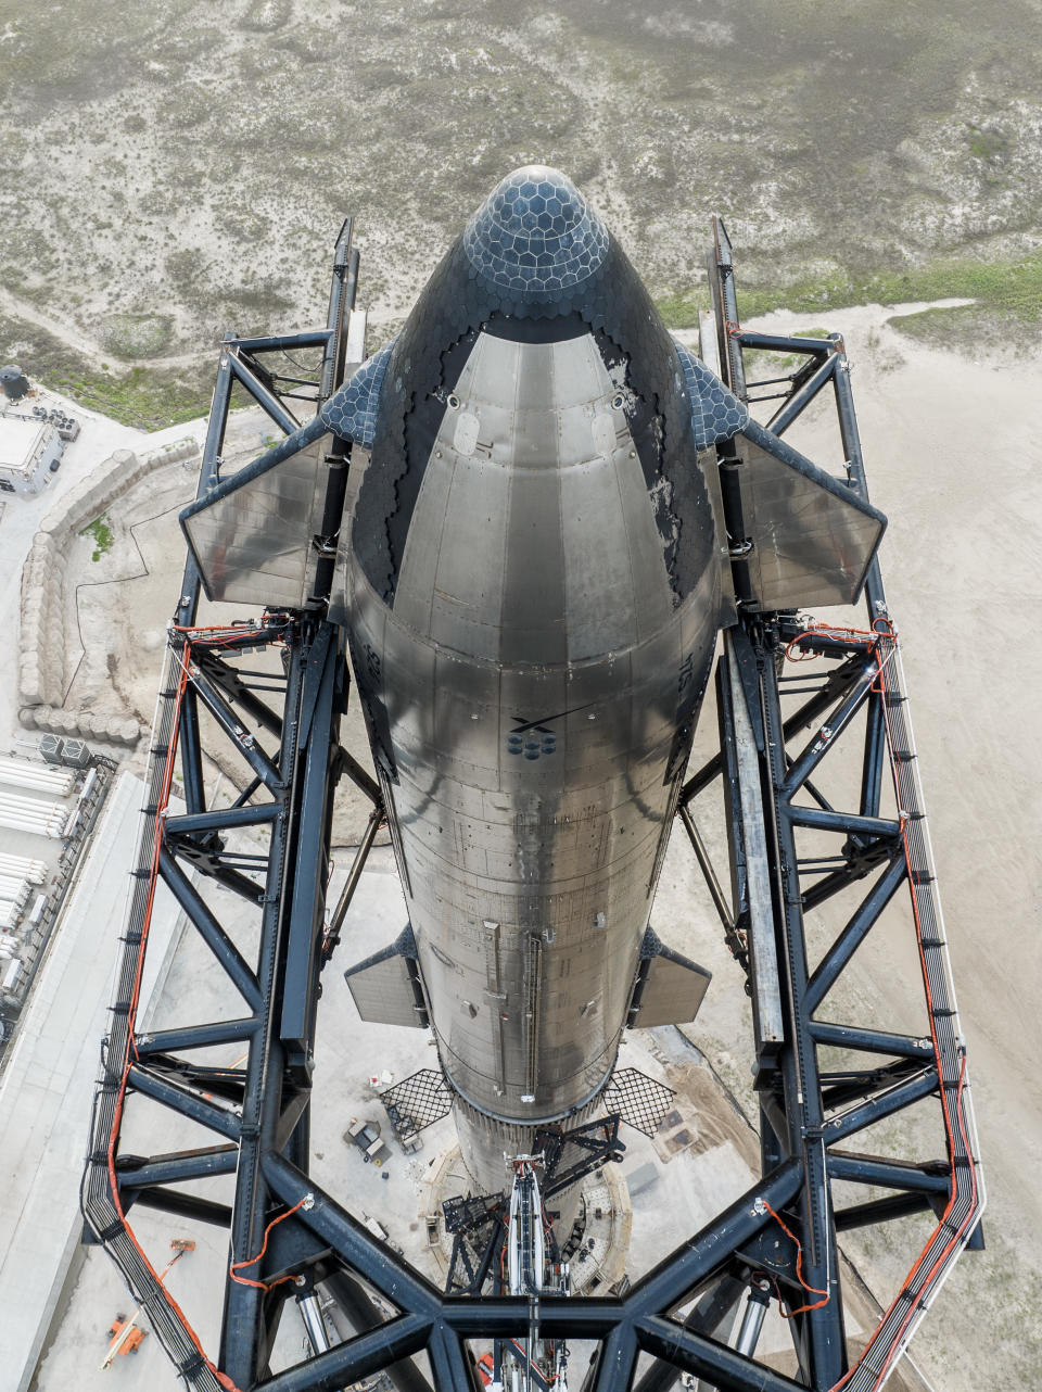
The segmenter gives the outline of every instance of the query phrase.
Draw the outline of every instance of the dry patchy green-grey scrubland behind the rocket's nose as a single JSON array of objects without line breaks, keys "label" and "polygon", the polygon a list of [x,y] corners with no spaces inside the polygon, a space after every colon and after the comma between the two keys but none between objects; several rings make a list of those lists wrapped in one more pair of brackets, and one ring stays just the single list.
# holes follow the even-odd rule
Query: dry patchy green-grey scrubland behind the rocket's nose
[{"label": "dry patchy green-grey scrubland behind the rocket's nose", "polygon": [[374,337],[511,167],[568,170],[675,324],[712,210],[746,313],[972,296],[1035,341],[1042,15],[1025,0],[8,0],[0,352],[117,416],[209,395],[227,329],[314,320],[341,217]]}]

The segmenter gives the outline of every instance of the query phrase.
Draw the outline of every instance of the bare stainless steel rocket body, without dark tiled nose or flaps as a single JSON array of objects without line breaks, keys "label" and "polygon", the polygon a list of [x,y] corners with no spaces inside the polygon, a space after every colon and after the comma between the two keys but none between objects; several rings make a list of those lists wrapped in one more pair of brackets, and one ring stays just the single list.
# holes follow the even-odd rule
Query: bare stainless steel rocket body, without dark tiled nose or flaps
[{"label": "bare stainless steel rocket body, without dark tiled nose or flaps", "polygon": [[[538,341],[515,327],[490,319],[427,384],[444,406],[392,596],[362,535],[378,438],[349,560],[352,654],[430,1022],[490,1189],[504,1150],[584,1112],[611,1075],[719,612],[690,437],[665,441],[661,404],[641,406],[629,361],[588,324]],[[661,497],[648,489],[650,441],[700,508],[704,564],[683,593],[669,561],[696,523],[661,470]]]}]

